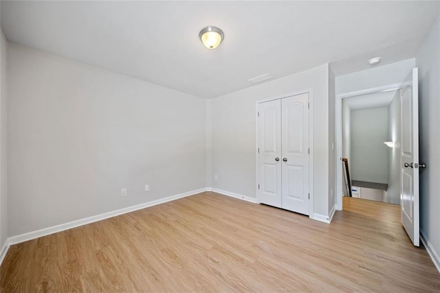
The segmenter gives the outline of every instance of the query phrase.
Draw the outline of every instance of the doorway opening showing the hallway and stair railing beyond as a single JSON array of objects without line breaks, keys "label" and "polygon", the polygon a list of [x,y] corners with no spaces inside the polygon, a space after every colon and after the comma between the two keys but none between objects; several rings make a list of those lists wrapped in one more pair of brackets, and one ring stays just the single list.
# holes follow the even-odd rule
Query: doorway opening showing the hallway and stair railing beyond
[{"label": "doorway opening showing the hallway and stair railing beyond", "polygon": [[400,123],[399,89],[342,99],[344,195],[400,204]]}]

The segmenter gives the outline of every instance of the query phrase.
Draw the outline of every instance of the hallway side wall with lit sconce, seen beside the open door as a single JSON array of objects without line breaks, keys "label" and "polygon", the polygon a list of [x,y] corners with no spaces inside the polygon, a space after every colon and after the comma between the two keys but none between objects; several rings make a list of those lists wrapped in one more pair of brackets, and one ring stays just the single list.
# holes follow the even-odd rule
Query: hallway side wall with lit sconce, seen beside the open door
[{"label": "hallway side wall with lit sconce, seen beside the open door", "polygon": [[388,140],[395,142],[393,148],[388,149],[388,190],[385,202],[400,204],[400,151],[401,151],[401,110],[400,91],[396,94],[388,107]]}]

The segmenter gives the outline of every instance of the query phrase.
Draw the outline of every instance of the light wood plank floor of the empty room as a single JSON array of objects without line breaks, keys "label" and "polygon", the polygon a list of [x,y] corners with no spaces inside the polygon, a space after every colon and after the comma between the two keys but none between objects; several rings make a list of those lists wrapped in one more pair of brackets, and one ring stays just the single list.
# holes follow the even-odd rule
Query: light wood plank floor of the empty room
[{"label": "light wood plank floor of the empty room", "polygon": [[324,224],[201,193],[12,246],[1,292],[439,292],[399,206],[344,198]]}]

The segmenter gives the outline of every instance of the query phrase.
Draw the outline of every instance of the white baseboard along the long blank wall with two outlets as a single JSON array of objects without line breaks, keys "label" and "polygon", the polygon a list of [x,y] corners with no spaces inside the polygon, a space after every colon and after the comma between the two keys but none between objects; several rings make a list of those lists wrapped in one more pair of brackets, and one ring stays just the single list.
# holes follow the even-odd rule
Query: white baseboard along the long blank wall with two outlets
[{"label": "white baseboard along the long blank wall with two outlets", "polygon": [[126,214],[126,213],[131,213],[131,212],[133,212],[135,210],[142,210],[142,208],[148,208],[150,206],[156,206],[157,204],[164,204],[166,202],[170,202],[170,201],[173,201],[175,199],[180,199],[182,197],[188,197],[190,195],[195,195],[197,193],[202,193],[203,191],[206,191],[206,188],[200,188],[200,189],[197,189],[195,191],[188,191],[186,193],[180,193],[178,195],[172,195],[170,197],[165,197],[165,198],[162,198],[162,199],[156,199],[156,200],[153,200],[151,202],[145,202],[143,204],[137,204],[135,206],[129,206],[127,208],[121,208],[120,210],[113,210],[113,211],[108,212],[108,213],[103,213],[103,214],[100,214],[100,215],[91,216],[91,217],[87,217],[87,218],[84,218],[84,219],[78,219],[76,221],[70,221],[70,222],[65,223],[65,224],[60,224],[60,225],[56,225],[56,226],[52,226],[52,227],[48,227],[48,228],[43,228],[43,229],[40,229],[40,230],[36,230],[36,231],[32,231],[32,232],[21,234],[21,235],[9,237],[7,242],[11,246],[11,245],[14,245],[14,244],[17,244],[17,243],[21,243],[21,242],[24,242],[24,241],[29,241],[29,240],[32,240],[32,239],[36,239],[36,238],[39,238],[39,237],[46,236],[46,235],[51,235],[51,234],[54,234],[56,232],[61,232],[61,231],[64,231],[64,230],[69,230],[69,229],[76,228],[76,227],[79,227],[79,226],[83,226],[83,225],[86,225],[86,224],[91,224],[91,223],[94,223],[96,221],[101,221],[103,219],[109,219],[111,217],[115,217],[115,216],[118,216],[118,215],[123,215],[123,214]]}]

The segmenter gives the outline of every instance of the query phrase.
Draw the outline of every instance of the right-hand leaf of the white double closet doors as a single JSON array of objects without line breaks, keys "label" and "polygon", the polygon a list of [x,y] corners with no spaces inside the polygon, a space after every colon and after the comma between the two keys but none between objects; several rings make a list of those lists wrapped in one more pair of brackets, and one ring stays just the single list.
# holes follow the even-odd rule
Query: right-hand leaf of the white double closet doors
[{"label": "right-hand leaf of the white double closet doors", "polygon": [[282,207],[309,215],[309,94],[281,101]]}]

